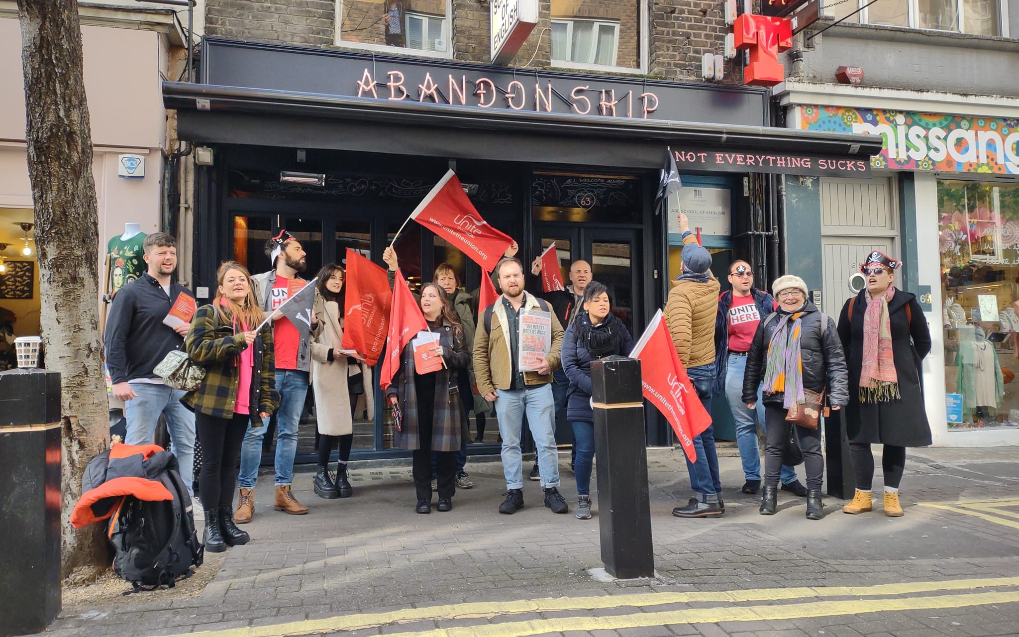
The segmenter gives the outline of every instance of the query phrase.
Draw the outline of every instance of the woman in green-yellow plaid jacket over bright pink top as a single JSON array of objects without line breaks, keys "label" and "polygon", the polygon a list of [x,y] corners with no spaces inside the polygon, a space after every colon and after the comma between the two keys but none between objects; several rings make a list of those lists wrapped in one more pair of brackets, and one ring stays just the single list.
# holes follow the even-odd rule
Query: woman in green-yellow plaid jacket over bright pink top
[{"label": "woman in green-yellow plaid jacket over bright pink top", "polygon": [[233,523],[230,508],[240,443],[248,425],[263,426],[262,419],[279,405],[272,329],[255,331],[265,314],[255,300],[251,274],[227,261],[216,272],[216,284],[212,304],[198,309],[184,339],[187,356],[205,367],[205,378],[180,400],[195,412],[202,440],[199,498],[205,510],[205,549],[211,552],[251,539]]}]

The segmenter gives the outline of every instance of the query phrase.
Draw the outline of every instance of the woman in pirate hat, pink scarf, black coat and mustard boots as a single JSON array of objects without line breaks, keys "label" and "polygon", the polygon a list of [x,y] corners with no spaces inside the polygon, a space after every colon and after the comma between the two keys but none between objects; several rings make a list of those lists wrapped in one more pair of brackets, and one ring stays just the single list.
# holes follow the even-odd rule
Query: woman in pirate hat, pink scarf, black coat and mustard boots
[{"label": "woman in pirate hat, pink scarf, black coat and mustard boots", "polygon": [[860,270],[867,286],[846,302],[839,317],[839,337],[849,359],[846,434],[849,438],[856,494],[843,507],[855,515],[872,509],[874,457],[870,445],[884,445],[884,515],[902,516],[899,483],[907,446],[930,444],[923,406],[920,361],[930,352],[930,331],[916,297],[897,289],[901,261],[872,252]]}]

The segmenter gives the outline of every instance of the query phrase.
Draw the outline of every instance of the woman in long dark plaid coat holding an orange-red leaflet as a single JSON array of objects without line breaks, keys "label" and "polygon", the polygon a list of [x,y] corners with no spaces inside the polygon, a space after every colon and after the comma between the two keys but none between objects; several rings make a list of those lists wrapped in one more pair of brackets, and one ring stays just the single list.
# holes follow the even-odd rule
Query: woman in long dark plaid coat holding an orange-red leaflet
[{"label": "woman in long dark plaid coat holding an orange-red leaflet", "polygon": [[418,513],[431,513],[431,452],[436,452],[436,476],[439,501],[436,509],[452,509],[457,490],[457,453],[460,452],[462,428],[467,414],[460,400],[458,373],[471,364],[464,326],[449,305],[445,290],[435,283],[421,289],[421,311],[428,328],[438,334],[439,343],[433,349],[445,366],[436,372],[418,374],[414,362],[413,340],[404,348],[399,371],[386,393],[390,405],[403,410],[400,429],[393,436],[399,448],[413,449],[414,487],[418,495]]}]

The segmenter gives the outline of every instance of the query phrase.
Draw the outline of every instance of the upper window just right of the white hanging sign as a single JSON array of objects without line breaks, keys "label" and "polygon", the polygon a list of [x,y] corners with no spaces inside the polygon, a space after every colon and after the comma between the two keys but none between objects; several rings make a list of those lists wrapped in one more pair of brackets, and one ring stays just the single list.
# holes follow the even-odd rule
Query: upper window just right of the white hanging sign
[{"label": "upper window just right of the white hanging sign", "polygon": [[647,22],[641,0],[551,0],[552,64],[642,69]]}]

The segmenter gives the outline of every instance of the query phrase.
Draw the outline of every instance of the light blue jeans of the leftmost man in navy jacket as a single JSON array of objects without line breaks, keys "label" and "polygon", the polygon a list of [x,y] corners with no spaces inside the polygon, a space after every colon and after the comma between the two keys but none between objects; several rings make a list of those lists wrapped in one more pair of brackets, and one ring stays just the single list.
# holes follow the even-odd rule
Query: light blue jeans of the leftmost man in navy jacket
[{"label": "light blue jeans of the leftmost man in navy jacket", "polygon": [[152,444],[159,415],[165,416],[166,429],[170,432],[170,453],[177,459],[177,471],[187,485],[189,495],[194,497],[195,414],[180,402],[187,392],[151,382],[131,382],[130,388],[138,397],[124,403],[127,420],[124,443]]}]

